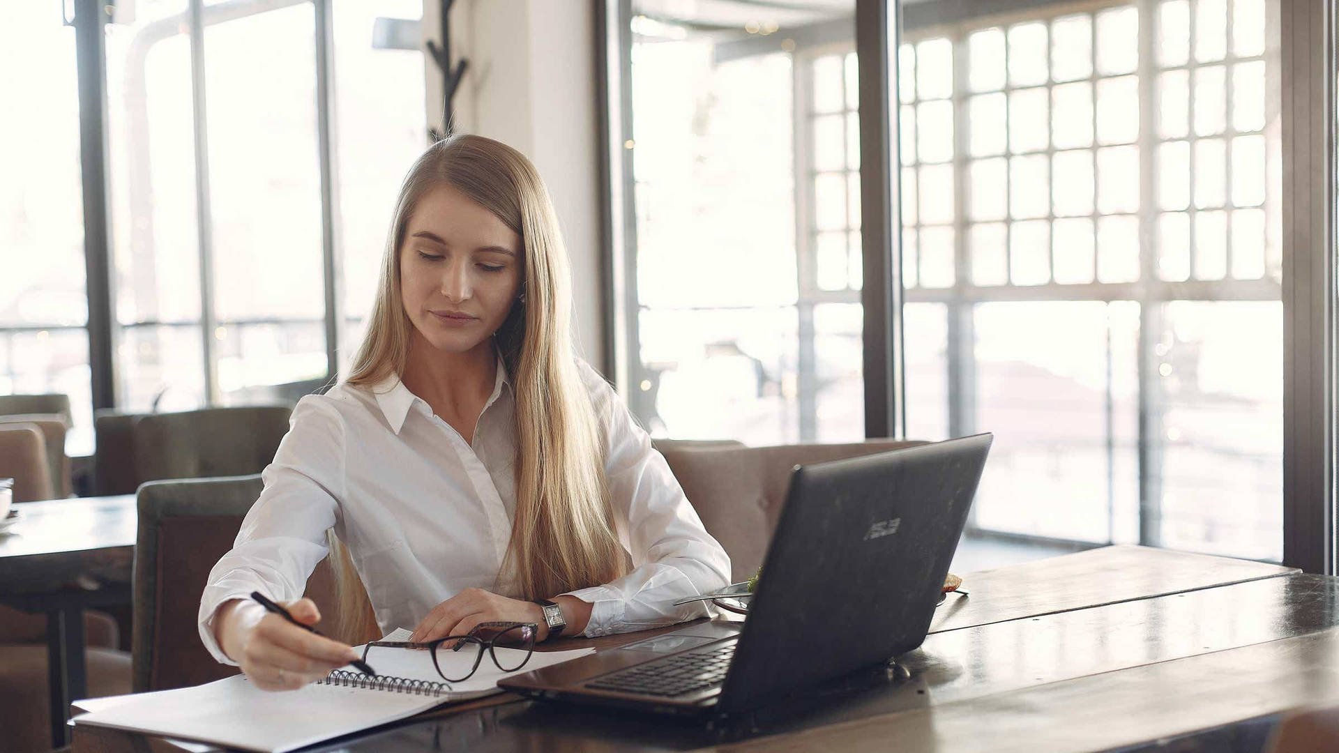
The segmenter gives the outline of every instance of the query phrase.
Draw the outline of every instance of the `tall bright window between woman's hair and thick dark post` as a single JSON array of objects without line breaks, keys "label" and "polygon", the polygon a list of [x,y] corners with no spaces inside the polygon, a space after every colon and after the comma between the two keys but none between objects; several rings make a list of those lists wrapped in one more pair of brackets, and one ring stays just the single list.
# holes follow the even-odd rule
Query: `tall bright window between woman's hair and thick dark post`
[{"label": "tall bright window between woman's hair and thick dark post", "polygon": [[656,435],[862,435],[852,8],[633,3],[628,374]]}]

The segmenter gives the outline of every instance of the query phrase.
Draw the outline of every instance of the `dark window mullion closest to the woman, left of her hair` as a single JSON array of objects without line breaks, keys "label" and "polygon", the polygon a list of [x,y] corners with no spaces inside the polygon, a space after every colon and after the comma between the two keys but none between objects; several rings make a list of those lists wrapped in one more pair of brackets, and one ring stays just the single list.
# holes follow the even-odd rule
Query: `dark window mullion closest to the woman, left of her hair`
[{"label": "dark window mullion closest to the woman, left of her hair", "polygon": [[321,271],[325,283],[325,378],[340,371],[343,344],[344,264],[340,257],[339,151],[335,147],[335,25],[331,0],[315,0],[316,11],[316,149],[321,192]]}]

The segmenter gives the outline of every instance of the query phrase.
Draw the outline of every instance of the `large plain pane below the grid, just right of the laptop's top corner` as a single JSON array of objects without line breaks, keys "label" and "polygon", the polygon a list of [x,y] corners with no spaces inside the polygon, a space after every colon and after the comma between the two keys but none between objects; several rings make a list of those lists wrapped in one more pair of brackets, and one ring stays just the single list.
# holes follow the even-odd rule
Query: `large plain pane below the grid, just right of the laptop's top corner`
[{"label": "large plain pane below the grid, just right of the laptop's top corner", "polygon": [[[1107,540],[1109,374],[1138,332],[1137,315],[1113,319],[1103,303],[976,304],[975,425],[996,431],[973,505],[976,525]],[[1115,410],[1122,422],[1137,415],[1123,394]],[[1138,485],[1127,474],[1115,482]],[[1019,504],[1018,489],[1027,489],[1027,504]]]}]

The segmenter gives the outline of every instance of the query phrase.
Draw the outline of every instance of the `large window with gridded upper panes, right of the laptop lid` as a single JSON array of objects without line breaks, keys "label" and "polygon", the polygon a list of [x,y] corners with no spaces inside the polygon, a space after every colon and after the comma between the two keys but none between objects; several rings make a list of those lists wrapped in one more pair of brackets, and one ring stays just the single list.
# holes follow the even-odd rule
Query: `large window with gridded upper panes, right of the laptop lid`
[{"label": "large window with gridded upper panes, right of the laptop lid", "polygon": [[945,386],[908,379],[908,426],[996,433],[977,528],[1281,557],[1269,28],[1164,0],[905,29],[908,364]]}]

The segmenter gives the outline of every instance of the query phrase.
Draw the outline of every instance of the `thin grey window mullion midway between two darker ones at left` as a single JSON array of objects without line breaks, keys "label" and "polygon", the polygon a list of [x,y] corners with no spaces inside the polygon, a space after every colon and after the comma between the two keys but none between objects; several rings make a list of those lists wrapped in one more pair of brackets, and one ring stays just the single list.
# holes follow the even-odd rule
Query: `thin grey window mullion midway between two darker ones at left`
[{"label": "thin grey window mullion midway between two darker ones at left", "polygon": [[200,244],[200,342],[205,359],[205,405],[218,399],[218,368],[214,359],[214,253],[213,213],[209,204],[209,135],[205,106],[204,0],[190,0],[190,91],[195,134],[195,217]]}]

